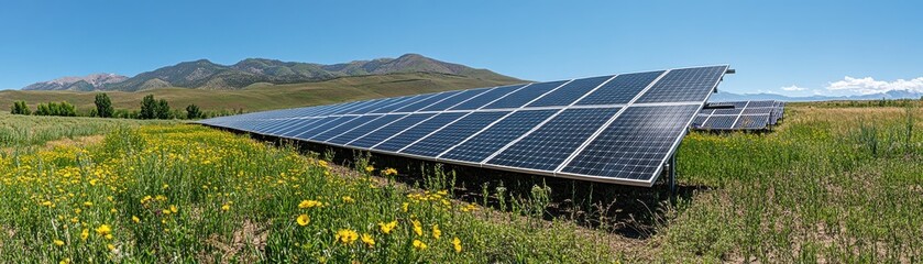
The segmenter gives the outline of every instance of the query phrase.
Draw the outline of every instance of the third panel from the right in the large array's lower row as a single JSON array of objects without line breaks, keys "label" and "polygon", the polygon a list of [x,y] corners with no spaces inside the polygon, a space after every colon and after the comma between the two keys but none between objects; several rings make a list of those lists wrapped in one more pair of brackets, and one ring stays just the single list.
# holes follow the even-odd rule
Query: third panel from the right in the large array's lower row
[{"label": "third panel from the right in the large array's lower row", "polygon": [[481,163],[494,152],[518,139],[558,110],[517,111],[487,130],[459,144],[439,158]]}]

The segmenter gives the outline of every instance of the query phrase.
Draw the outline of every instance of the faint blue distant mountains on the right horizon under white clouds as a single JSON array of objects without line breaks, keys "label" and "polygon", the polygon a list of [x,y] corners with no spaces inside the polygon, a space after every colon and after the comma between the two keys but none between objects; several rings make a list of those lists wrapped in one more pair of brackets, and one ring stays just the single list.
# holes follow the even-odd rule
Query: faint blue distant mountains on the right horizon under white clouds
[{"label": "faint blue distant mountains on the right horizon under white clouds", "polygon": [[862,96],[810,96],[810,97],[789,97],[777,94],[732,94],[718,92],[712,95],[708,101],[747,101],[747,100],[779,100],[779,101],[834,101],[834,100],[878,100],[878,99],[920,99],[923,92],[908,91],[908,90],[890,90],[887,92],[862,95]]}]

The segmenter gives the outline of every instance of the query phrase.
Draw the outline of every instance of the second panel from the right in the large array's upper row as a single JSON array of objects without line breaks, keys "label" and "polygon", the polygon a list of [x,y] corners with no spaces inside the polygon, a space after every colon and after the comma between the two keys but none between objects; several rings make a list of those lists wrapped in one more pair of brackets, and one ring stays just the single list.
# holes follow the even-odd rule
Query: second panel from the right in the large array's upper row
[{"label": "second panel from the right in the large array's upper row", "polygon": [[576,102],[578,106],[587,105],[624,105],[631,101],[650,82],[663,74],[664,70],[618,75],[595,91]]}]

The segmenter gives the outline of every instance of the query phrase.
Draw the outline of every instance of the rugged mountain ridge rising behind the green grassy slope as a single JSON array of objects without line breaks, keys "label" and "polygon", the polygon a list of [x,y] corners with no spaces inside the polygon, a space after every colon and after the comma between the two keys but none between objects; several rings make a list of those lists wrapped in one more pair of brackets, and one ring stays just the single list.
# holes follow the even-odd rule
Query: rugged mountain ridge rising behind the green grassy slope
[{"label": "rugged mountain ridge rising behind the green grassy slope", "polygon": [[[199,59],[141,73],[134,77],[119,81],[94,85],[91,86],[92,89],[81,86],[81,89],[73,90],[139,91],[166,87],[233,90],[261,82],[282,85],[322,81],[339,77],[400,73],[443,74],[492,81],[518,80],[488,69],[477,69],[460,64],[446,63],[419,54],[405,54],[397,58],[354,61],[333,65],[282,62],[266,58],[248,58],[233,65],[220,65],[208,59]],[[52,90],[52,88],[58,88],[57,86],[40,84],[46,82],[39,82],[26,88],[31,90]]]}]

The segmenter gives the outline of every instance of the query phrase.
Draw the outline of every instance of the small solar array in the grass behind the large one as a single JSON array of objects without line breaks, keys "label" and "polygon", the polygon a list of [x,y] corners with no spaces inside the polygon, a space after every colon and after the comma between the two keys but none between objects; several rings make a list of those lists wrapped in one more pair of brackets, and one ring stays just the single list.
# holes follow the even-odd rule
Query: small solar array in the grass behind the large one
[{"label": "small solar array in the grass behind the large one", "polygon": [[768,130],[782,119],[785,102],[782,101],[729,101],[710,102],[692,121],[696,130]]}]

